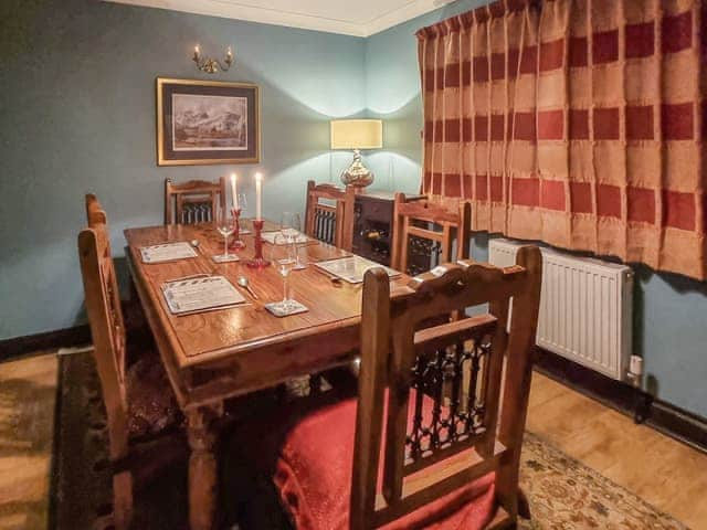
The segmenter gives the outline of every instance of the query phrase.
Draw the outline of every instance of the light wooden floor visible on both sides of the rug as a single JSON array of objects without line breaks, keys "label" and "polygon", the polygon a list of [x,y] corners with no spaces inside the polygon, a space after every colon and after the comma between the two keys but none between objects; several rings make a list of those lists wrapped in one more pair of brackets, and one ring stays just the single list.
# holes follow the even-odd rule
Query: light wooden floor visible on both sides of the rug
[{"label": "light wooden floor visible on both sides of the rug", "polygon": [[[44,529],[57,363],[0,364],[0,530]],[[528,430],[693,530],[707,530],[707,455],[541,374]]]}]

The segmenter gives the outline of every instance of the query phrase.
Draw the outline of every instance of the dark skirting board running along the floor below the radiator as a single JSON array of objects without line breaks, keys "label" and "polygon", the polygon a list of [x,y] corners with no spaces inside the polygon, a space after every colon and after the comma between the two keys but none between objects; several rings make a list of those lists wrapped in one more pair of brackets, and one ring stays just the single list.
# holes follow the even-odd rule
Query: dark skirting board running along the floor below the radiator
[{"label": "dark skirting board running along the floor below the radiator", "polygon": [[535,369],[605,405],[633,416],[690,447],[707,453],[707,418],[654,399],[627,383],[606,378],[556,353],[538,349]]}]

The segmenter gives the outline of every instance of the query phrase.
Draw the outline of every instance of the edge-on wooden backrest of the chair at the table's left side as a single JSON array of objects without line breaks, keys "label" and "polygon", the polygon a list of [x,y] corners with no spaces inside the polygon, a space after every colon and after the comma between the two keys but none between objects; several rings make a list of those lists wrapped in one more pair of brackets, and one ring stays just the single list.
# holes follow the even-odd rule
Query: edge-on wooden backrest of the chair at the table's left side
[{"label": "edge-on wooden backrest of the chair at the table's left side", "polygon": [[86,197],[86,206],[91,226],[78,234],[78,258],[94,344],[93,354],[108,416],[110,457],[119,458],[127,454],[128,444],[125,322],[110,255],[106,214],[93,195],[92,199]]}]

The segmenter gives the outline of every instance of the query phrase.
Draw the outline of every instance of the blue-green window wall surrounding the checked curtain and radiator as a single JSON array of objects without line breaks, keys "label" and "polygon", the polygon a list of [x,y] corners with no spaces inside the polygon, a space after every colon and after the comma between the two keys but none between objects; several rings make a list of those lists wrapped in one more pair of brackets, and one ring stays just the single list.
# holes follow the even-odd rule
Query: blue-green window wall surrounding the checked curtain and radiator
[{"label": "blue-green window wall surrounding the checked curtain and radiator", "polygon": [[[371,167],[391,186],[420,186],[422,104],[414,32],[473,9],[484,0],[457,1],[366,40],[367,104],[386,119],[386,144]],[[416,178],[411,178],[414,174]],[[477,259],[488,258],[487,235],[473,240]],[[707,283],[635,266],[634,351],[644,357],[646,388],[659,399],[707,416]]]}]

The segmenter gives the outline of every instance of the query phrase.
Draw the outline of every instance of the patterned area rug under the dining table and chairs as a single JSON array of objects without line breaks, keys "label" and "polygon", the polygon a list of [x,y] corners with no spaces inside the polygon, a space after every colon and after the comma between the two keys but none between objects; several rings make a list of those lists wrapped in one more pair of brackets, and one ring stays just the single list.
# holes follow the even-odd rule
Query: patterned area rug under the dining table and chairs
[{"label": "patterned area rug under the dining table and chairs", "polygon": [[[98,379],[89,353],[63,357],[60,367],[52,526],[57,530],[94,528],[110,511],[110,477],[106,458],[107,433]],[[229,463],[230,459],[225,458]],[[241,469],[224,466],[222,484],[233,484]],[[530,502],[531,520],[524,530],[684,530],[687,527],[656,510],[643,499],[613,484],[547,442],[527,432],[524,439],[520,483]],[[136,500],[135,528],[186,528],[186,463],[157,477]],[[267,488],[258,484],[253,488]],[[251,486],[247,489],[253,489]],[[240,488],[239,488],[240,489]],[[233,489],[230,490],[233,495]],[[221,491],[221,527],[251,530],[242,507],[229,504]],[[234,496],[235,497],[235,496]],[[270,515],[267,529],[288,529],[268,495],[253,495],[255,507]],[[253,507],[251,507],[253,508]],[[257,519],[262,521],[262,518]],[[261,522],[262,524],[262,522]],[[255,529],[254,529],[255,530]],[[256,530],[263,530],[260,526]]]}]

